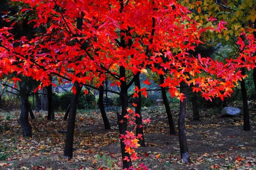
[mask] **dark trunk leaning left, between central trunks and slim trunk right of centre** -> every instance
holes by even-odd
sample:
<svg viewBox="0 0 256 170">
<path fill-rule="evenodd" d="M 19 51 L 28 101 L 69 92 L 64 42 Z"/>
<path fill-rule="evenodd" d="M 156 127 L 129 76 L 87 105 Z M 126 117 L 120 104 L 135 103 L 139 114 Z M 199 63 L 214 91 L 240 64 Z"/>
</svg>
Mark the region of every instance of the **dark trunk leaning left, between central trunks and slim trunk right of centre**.
<svg viewBox="0 0 256 170">
<path fill-rule="evenodd" d="M 164 77 L 163 77 L 162 74 L 160 75 L 160 83 L 161 84 L 164 83 Z M 167 118 L 168 118 L 170 134 L 175 135 L 176 134 L 175 126 L 174 126 L 174 122 L 173 122 L 173 119 L 172 119 L 171 108 L 170 108 L 170 105 L 169 105 L 169 102 L 168 102 L 168 99 L 167 99 L 167 96 L 166 96 L 166 89 L 161 87 L 161 92 L 162 92 L 162 96 L 163 96 L 163 104 L 166 108 L 166 114 L 167 114 Z"/>
</svg>

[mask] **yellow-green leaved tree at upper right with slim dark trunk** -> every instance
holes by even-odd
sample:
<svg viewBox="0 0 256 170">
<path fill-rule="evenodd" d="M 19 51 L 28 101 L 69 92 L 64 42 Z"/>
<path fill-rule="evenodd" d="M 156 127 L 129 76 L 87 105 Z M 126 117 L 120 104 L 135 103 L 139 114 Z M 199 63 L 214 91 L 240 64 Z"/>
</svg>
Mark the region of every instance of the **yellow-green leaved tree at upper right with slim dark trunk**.
<svg viewBox="0 0 256 170">
<path fill-rule="evenodd" d="M 216 45 L 219 42 L 221 42 L 222 45 L 231 43 L 235 49 L 233 50 L 233 53 L 227 54 L 227 58 L 238 57 L 239 59 L 239 53 L 241 53 L 243 48 L 240 48 L 238 44 L 247 43 L 246 35 L 244 36 L 244 34 L 253 34 L 254 37 L 256 36 L 255 1 L 206 0 L 202 2 L 197 0 L 186 0 L 182 1 L 181 4 L 193 11 L 191 15 L 202 26 L 212 26 L 216 20 L 225 20 L 227 29 L 223 32 L 218 32 L 218 34 L 204 34 L 203 39 L 206 43 L 211 45 Z M 214 41 L 214 43 L 212 43 L 212 41 Z M 221 56 L 219 54 L 217 55 L 218 57 Z M 244 60 L 244 62 L 246 62 L 246 59 Z M 246 68 L 247 70 L 253 69 L 253 82 L 256 89 L 256 68 L 254 65 L 255 63 L 250 62 L 250 66 L 244 65 L 244 67 L 238 69 L 241 70 L 243 76 L 246 76 Z M 244 78 L 241 79 L 240 85 L 244 110 L 243 129 L 250 130 L 247 90 Z"/>
</svg>

